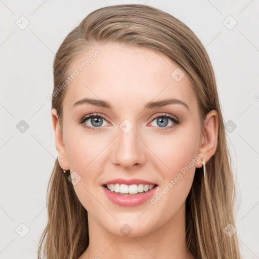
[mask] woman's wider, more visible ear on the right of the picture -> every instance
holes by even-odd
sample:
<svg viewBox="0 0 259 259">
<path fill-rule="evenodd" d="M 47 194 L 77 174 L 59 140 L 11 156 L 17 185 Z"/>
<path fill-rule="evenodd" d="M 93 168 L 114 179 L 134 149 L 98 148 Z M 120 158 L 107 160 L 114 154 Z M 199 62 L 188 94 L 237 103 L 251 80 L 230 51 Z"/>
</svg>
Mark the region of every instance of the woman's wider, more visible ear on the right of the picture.
<svg viewBox="0 0 259 259">
<path fill-rule="evenodd" d="M 204 121 L 204 131 L 200 139 L 200 153 L 207 162 L 215 153 L 218 145 L 219 117 L 215 110 L 210 111 Z M 196 167 L 201 167 L 202 161 L 197 162 Z"/>
</svg>

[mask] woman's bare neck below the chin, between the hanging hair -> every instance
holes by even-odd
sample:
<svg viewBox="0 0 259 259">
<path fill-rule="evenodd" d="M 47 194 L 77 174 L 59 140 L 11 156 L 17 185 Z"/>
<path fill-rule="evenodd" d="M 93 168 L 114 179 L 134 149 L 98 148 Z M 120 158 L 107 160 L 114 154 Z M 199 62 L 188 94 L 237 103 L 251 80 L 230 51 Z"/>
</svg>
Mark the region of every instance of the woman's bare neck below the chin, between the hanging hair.
<svg viewBox="0 0 259 259">
<path fill-rule="evenodd" d="M 88 222 L 90 242 L 79 259 L 194 259 L 186 246 L 185 203 L 165 225 L 142 236 L 114 235 L 91 215 L 88 215 Z"/>
</svg>

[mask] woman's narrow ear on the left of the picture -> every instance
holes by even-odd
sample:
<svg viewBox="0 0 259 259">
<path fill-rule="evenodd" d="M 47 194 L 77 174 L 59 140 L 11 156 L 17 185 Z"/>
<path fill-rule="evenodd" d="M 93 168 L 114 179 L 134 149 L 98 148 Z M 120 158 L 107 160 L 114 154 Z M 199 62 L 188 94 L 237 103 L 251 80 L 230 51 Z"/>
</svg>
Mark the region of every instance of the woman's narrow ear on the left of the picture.
<svg viewBox="0 0 259 259">
<path fill-rule="evenodd" d="M 60 128 L 56 109 L 52 109 L 52 124 L 55 132 L 55 144 L 58 152 L 59 164 L 62 169 L 68 170 L 69 164 L 67 161 L 66 150 L 65 150 L 65 145 L 63 141 L 63 133 Z"/>
</svg>

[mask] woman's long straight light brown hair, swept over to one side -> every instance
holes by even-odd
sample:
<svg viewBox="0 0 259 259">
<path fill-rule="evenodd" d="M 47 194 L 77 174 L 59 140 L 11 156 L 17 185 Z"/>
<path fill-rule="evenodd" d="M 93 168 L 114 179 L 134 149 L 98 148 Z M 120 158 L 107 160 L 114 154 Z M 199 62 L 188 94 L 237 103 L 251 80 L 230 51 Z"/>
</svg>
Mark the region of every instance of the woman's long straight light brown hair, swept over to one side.
<svg viewBox="0 0 259 259">
<path fill-rule="evenodd" d="M 218 144 L 206 163 L 196 168 L 186 199 L 186 242 L 195 258 L 241 258 L 237 234 L 224 228 L 235 226 L 235 182 L 227 147 L 224 119 L 211 62 L 198 37 L 183 22 L 146 5 L 116 5 L 98 9 L 85 17 L 63 40 L 54 69 L 52 108 L 62 129 L 62 101 L 71 63 L 89 47 L 115 42 L 143 47 L 166 55 L 189 76 L 198 101 L 200 124 L 211 110 L 218 112 Z M 70 171 L 68 171 L 70 174 Z M 58 158 L 48 185 L 48 223 L 40 238 L 38 258 L 77 259 L 89 246 L 88 213 L 78 200 Z M 41 257 L 41 252 L 44 257 Z"/>
</svg>

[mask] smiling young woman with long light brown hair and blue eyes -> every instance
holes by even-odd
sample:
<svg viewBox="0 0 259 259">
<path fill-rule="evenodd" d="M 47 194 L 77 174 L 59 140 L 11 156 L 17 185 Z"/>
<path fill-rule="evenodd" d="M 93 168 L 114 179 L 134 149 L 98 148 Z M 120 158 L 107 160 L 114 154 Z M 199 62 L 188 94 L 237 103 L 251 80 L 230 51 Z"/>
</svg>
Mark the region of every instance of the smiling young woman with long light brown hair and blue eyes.
<svg viewBox="0 0 259 259">
<path fill-rule="evenodd" d="M 89 14 L 54 61 L 46 258 L 240 258 L 214 72 L 181 21 Z M 45 242 L 45 244 L 44 244 Z"/>
</svg>

